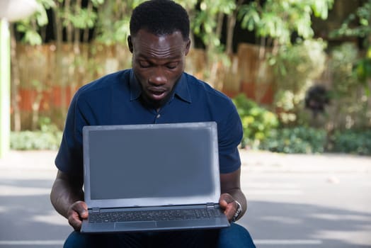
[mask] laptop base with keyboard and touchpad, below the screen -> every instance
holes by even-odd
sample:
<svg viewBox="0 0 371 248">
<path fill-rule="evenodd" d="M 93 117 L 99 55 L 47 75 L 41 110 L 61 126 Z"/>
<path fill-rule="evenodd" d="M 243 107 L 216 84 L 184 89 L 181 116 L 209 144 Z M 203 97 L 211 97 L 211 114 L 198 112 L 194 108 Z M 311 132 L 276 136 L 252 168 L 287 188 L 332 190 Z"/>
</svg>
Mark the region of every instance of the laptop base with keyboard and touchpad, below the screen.
<svg viewBox="0 0 371 248">
<path fill-rule="evenodd" d="M 164 209 L 165 208 L 165 209 Z M 166 209 L 167 208 L 167 209 Z M 147 216 L 144 216 L 147 214 Z M 186 217 L 188 215 L 188 217 Z M 110 220 L 113 218 L 113 220 Z M 115 221 L 117 220 L 117 221 Z M 135 221 L 133 221 L 135 220 Z M 229 227 L 227 217 L 219 205 L 169 206 L 142 210 L 89 210 L 81 232 L 148 232 L 169 230 L 218 229 Z"/>
</svg>

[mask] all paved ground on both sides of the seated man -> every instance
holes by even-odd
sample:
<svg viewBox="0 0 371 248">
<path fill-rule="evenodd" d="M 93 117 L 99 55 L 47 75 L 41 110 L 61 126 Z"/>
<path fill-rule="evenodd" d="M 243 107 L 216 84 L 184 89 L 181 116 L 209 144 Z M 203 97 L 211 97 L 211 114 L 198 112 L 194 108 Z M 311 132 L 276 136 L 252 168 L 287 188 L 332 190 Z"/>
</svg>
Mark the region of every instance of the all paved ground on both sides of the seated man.
<svg viewBox="0 0 371 248">
<path fill-rule="evenodd" d="M 0 247 L 62 247 L 72 231 L 49 192 L 55 152 L 0 159 Z M 371 247 L 371 157 L 241 151 L 257 247 Z"/>
</svg>

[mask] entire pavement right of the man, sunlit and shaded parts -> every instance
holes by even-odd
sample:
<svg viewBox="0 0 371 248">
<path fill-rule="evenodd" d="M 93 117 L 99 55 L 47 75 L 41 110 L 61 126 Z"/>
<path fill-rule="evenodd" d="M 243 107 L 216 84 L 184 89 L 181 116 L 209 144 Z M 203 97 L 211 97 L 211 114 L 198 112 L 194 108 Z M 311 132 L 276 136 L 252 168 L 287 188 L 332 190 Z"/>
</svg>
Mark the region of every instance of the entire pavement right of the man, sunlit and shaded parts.
<svg viewBox="0 0 371 248">
<path fill-rule="evenodd" d="M 241 152 L 257 247 L 371 247 L 371 158 Z"/>
</svg>

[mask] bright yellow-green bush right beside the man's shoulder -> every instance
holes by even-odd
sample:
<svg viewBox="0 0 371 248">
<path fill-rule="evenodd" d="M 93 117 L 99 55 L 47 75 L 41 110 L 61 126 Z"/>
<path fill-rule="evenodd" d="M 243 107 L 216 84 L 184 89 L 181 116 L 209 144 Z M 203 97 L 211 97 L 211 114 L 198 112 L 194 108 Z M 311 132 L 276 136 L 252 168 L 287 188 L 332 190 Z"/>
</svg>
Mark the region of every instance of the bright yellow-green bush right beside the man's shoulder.
<svg viewBox="0 0 371 248">
<path fill-rule="evenodd" d="M 233 101 L 244 129 L 241 146 L 256 148 L 262 140 L 266 139 L 270 130 L 278 126 L 278 119 L 274 113 L 258 106 L 244 94 L 239 94 L 233 98 Z"/>
</svg>

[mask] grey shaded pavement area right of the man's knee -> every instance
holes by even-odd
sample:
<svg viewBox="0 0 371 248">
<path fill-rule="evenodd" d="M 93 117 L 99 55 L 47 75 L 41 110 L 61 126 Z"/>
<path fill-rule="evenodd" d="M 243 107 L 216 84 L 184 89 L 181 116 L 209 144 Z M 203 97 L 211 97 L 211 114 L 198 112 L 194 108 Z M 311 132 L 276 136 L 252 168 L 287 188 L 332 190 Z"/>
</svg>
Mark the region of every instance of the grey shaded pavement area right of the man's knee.
<svg viewBox="0 0 371 248">
<path fill-rule="evenodd" d="M 269 239 L 321 242 L 297 247 L 371 247 L 370 213 L 320 205 L 249 201 L 249 213 L 240 224 L 249 229 L 258 247 Z M 270 247 L 280 246 L 270 244 Z"/>
</svg>

